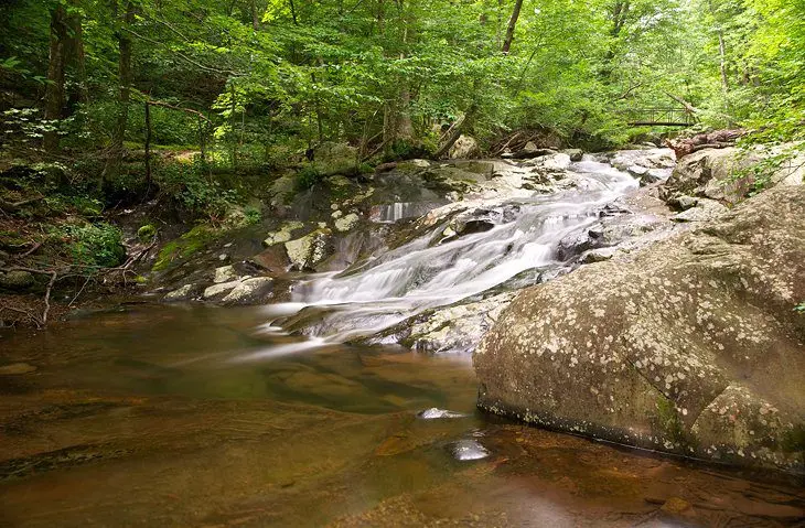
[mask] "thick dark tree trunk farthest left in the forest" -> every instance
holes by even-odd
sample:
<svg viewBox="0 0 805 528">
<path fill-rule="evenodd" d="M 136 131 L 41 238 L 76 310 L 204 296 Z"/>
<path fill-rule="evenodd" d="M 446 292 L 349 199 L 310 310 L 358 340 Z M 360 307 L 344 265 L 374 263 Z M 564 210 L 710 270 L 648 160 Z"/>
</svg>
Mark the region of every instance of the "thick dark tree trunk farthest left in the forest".
<svg viewBox="0 0 805 528">
<path fill-rule="evenodd" d="M 64 71 L 66 63 L 67 41 L 67 13 L 61 3 L 51 12 L 51 49 L 50 63 L 47 66 L 47 87 L 45 88 L 45 112 L 46 121 L 55 127 L 56 121 L 62 118 L 64 108 Z M 58 132 L 50 130 L 44 133 L 44 148 L 49 152 L 58 150 Z"/>
</svg>

